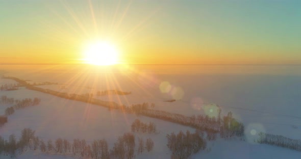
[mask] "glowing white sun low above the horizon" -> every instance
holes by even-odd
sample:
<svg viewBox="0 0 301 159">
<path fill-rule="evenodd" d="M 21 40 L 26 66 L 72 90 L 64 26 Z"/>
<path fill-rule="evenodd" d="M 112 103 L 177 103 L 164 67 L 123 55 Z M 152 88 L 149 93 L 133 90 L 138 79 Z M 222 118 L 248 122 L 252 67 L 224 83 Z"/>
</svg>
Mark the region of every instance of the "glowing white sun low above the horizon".
<svg viewBox="0 0 301 159">
<path fill-rule="evenodd" d="M 115 65 L 118 63 L 116 47 L 107 41 L 97 41 L 84 49 L 84 61 L 92 65 Z"/>
</svg>

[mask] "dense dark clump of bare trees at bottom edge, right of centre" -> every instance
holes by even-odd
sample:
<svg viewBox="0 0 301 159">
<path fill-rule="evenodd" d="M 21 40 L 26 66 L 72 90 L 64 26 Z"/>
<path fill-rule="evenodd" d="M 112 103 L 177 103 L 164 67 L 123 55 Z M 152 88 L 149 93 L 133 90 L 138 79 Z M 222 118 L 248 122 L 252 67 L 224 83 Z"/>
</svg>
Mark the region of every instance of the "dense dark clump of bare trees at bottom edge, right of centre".
<svg viewBox="0 0 301 159">
<path fill-rule="evenodd" d="M 196 153 L 207 146 L 206 140 L 203 138 L 203 133 L 195 131 L 190 133 L 189 130 L 186 134 L 180 131 L 177 135 L 174 133 L 168 134 L 167 147 L 171 150 L 171 158 L 183 159 L 188 158 L 192 153 Z"/>
</svg>

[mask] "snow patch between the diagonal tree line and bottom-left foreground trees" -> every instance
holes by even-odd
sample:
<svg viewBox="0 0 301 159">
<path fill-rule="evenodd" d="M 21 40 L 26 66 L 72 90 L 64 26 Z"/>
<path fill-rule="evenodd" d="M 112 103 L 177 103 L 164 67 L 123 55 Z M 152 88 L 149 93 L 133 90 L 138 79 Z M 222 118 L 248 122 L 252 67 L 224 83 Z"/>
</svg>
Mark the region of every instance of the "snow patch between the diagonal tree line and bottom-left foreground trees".
<svg viewBox="0 0 301 159">
<path fill-rule="evenodd" d="M 0 92 L 0 95 L 1 93 L 3 92 Z M 193 128 L 179 124 L 124 114 L 118 111 L 109 111 L 96 105 L 59 98 L 32 90 L 23 89 L 6 94 L 8 97 L 14 97 L 15 99 L 39 97 L 41 98 L 41 105 L 17 110 L 9 116 L 8 123 L 0 128 L 0 134 L 4 138 L 8 138 L 11 134 L 15 134 L 19 138 L 21 130 L 29 127 L 36 130 L 36 136 L 44 141 L 63 138 L 72 142 L 73 139 L 80 138 L 91 143 L 95 139 L 106 139 L 109 146 L 112 147 L 119 136 L 131 131 L 132 122 L 135 119 L 140 119 L 146 123 L 154 122 L 158 130 L 157 134 L 136 134 L 137 137 L 142 137 L 144 140 L 147 138 L 153 139 L 155 143 L 154 152 L 156 153 L 149 153 L 147 156 L 156 158 L 157 155 L 160 155 L 168 158 L 170 154 L 166 146 L 166 135 L 180 130 L 194 131 Z"/>
</svg>

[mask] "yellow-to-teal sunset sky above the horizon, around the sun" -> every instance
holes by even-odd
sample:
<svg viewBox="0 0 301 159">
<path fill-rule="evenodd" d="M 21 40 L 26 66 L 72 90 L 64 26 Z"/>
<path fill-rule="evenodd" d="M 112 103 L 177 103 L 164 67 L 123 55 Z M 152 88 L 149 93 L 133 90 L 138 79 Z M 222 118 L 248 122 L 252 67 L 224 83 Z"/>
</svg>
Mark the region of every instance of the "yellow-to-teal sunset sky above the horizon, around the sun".
<svg viewBox="0 0 301 159">
<path fill-rule="evenodd" d="M 301 64 L 301 1 L 0 0 L 0 64 L 81 63 L 112 43 L 120 63 Z"/>
</svg>

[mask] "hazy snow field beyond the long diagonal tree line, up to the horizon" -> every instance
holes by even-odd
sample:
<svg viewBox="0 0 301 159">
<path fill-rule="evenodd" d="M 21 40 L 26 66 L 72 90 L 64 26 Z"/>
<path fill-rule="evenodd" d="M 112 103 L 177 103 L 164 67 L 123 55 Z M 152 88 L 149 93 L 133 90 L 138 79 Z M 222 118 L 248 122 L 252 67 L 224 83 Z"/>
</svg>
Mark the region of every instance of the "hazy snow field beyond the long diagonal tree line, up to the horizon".
<svg viewBox="0 0 301 159">
<path fill-rule="evenodd" d="M 284 135 L 293 139 L 300 138 L 301 83 L 299 79 L 301 76 L 237 74 L 186 76 L 159 74 L 156 77 L 150 74 L 148 76 L 151 77 L 145 79 L 156 78 L 157 80 L 143 85 L 139 83 L 137 75 L 115 75 L 116 79 L 119 79 L 115 82 L 118 87 L 109 83 L 109 89 L 131 91 L 130 95 L 95 96 L 97 91 L 107 90 L 107 86 L 95 86 L 93 89 L 67 85 L 65 89 L 61 89 L 61 85 L 39 87 L 67 93 L 93 93 L 94 98 L 125 105 L 142 102 L 155 103 L 155 109 L 183 115 L 205 114 L 203 109 L 205 105 L 216 103 L 221 105 L 222 114 L 232 111 L 234 117 L 243 121 L 245 126 L 252 127 L 257 124 L 264 128 L 258 131 Z M 163 87 L 163 92 L 160 89 L 160 85 L 162 86 L 164 82 L 168 82 L 171 87 L 168 93 L 164 93 L 165 87 Z M 173 94 L 177 94 L 177 88 L 180 87 L 183 98 L 175 102 L 164 101 L 174 98 Z"/>
</svg>

